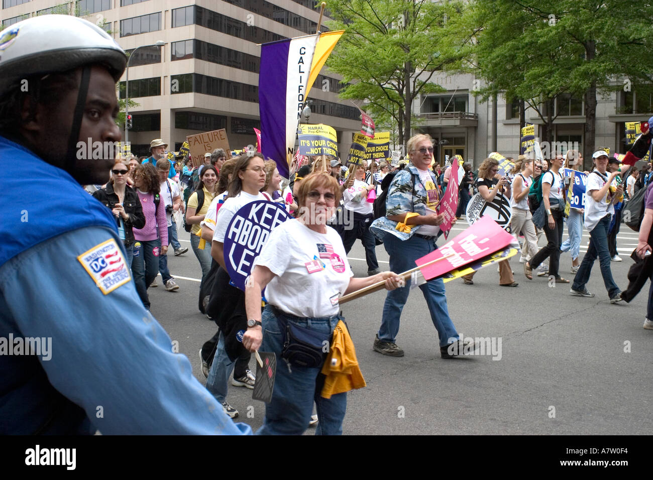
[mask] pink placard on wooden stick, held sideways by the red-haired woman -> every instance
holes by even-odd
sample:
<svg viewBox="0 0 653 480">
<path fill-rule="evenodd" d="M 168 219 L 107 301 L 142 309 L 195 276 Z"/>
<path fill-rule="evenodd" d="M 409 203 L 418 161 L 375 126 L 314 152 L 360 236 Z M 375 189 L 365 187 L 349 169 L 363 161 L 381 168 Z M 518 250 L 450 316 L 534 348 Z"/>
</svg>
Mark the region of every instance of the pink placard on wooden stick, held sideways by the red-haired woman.
<svg viewBox="0 0 653 480">
<path fill-rule="evenodd" d="M 510 245 L 513 240 L 513 236 L 503 230 L 496 221 L 485 216 L 437 250 L 417 259 L 415 263 L 421 267 L 425 263 L 451 255 L 442 261 L 420 268 L 424 278 L 431 280 L 475 260 L 492 255 Z"/>
</svg>

